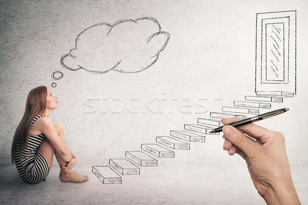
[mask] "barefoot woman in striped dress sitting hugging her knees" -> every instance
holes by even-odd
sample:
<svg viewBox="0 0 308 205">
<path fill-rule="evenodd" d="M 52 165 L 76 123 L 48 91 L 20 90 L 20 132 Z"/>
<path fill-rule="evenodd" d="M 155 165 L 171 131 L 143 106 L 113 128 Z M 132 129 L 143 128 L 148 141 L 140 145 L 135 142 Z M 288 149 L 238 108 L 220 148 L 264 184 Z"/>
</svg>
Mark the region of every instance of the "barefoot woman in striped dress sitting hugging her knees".
<svg viewBox="0 0 308 205">
<path fill-rule="evenodd" d="M 45 181 L 52 165 L 53 154 L 60 166 L 60 180 L 84 182 L 85 175 L 72 171 L 77 157 L 65 143 L 64 129 L 51 122 L 50 113 L 58 107 L 57 96 L 45 86 L 32 89 L 26 110 L 12 143 L 11 160 L 27 183 Z"/>
</svg>

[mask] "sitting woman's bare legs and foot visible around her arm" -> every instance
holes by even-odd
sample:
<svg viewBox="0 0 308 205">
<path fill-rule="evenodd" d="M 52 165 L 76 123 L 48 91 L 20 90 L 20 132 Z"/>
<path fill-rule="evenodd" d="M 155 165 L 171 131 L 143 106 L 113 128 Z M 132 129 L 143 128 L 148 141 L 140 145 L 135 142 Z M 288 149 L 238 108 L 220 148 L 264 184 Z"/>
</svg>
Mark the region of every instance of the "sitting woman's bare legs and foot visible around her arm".
<svg viewBox="0 0 308 205">
<path fill-rule="evenodd" d="M 59 122 L 55 122 L 53 124 L 57 134 L 61 137 L 61 139 L 64 140 L 65 142 L 65 138 L 64 138 L 64 129 L 62 127 L 62 125 Z M 62 157 L 60 156 L 60 154 L 54 149 L 54 147 L 52 146 L 51 142 L 48 140 L 47 137 L 45 137 L 45 139 L 43 140 L 40 148 L 38 148 L 38 151 L 46 158 L 47 163 L 48 163 L 48 167 L 49 167 L 49 171 L 51 169 L 51 165 L 52 165 L 52 160 L 53 160 L 53 154 L 56 157 L 57 162 L 60 165 L 66 165 L 66 161 L 64 159 L 62 159 Z M 82 175 L 79 175 L 75 172 L 70 172 L 69 174 L 66 174 L 65 172 L 63 172 L 60 169 L 60 180 L 61 181 L 71 181 L 71 182 L 83 182 L 88 180 L 87 177 L 84 177 Z"/>
</svg>

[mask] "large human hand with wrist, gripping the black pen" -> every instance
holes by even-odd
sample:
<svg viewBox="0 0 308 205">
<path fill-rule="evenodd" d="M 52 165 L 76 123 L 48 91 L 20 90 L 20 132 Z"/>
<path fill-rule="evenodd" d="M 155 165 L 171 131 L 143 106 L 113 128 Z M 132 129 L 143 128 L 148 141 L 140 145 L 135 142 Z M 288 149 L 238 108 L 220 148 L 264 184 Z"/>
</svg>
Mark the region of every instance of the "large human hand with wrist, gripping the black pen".
<svg viewBox="0 0 308 205">
<path fill-rule="evenodd" d="M 228 125 L 238 120 L 241 119 L 225 118 L 222 123 Z M 254 186 L 267 204 L 301 204 L 292 181 L 282 133 L 255 124 L 237 129 L 224 126 L 222 131 L 223 149 L 228 150 L 229 155 L 239 154 L 246 161 Z"/>
</svg>

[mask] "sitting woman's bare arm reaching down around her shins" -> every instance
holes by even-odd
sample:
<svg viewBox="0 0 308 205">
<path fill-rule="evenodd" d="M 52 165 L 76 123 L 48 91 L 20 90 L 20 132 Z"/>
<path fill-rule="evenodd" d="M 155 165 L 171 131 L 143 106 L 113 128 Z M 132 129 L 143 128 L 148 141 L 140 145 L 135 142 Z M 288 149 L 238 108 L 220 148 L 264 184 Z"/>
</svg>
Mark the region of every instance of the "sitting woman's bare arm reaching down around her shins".
<svg viewBox="0 0 308 205">
<path fill-rule="evenodd" d="M 69 147 L 64 141 L 57 135 L 52 122 L 48 117 L 41 117 L 36 121 L 37 129 L 49 139 L 54 149 L 60 154 L 60 156 L 67 162 L 71 161 L 72 154 Z"/>
</svg>

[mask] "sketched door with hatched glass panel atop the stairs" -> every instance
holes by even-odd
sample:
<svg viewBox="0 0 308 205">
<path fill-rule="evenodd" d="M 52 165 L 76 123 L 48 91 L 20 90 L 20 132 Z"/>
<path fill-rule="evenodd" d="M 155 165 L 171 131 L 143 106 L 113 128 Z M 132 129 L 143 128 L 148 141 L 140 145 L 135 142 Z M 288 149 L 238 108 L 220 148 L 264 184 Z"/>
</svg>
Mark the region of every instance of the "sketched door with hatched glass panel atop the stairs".
<svg viewBox="0 0 308 205">
<path fill-rule="evenodd" d="M 257 13 L 256 94 L 296 94 L 296 11 Z"/>
</svg>

